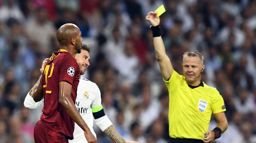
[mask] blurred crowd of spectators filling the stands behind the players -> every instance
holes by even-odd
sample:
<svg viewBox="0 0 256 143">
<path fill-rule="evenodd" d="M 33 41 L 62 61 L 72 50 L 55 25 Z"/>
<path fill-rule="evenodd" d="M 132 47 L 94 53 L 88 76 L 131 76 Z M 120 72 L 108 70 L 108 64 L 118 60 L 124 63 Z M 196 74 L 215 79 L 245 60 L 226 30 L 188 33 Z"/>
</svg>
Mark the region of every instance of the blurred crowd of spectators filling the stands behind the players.
<svg viewBox="0 0 256 143">
<path fill-rule="evenodd" d="M 126 140 L 166 143 L 168 91 L 145 16 L 164 4 L 167 55 L 182 74 L 182 55 L 204 55 L 202 80 L 219 90 L 228 130 L 215 143 L 256 143 L 256 0 L 0 0 L 0 143 L 33 143 L 42 106 L 23 101 L 44 58 L 58 50 L 56 29 L 78 25 L 91 47 L 85 77 Z M 216 126 L 211 120 L 210 129 Z M 111 143 L 95 127 L 98 143 Z M 191 130 L 191 132 L 193 132 Z"/>
</svg>

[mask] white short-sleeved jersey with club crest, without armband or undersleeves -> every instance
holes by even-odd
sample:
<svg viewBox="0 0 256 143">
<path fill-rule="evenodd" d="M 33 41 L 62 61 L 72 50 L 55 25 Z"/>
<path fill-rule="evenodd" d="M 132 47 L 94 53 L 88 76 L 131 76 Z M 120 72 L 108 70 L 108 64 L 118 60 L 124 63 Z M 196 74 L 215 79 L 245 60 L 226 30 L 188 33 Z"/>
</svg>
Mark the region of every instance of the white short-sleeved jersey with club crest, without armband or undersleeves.
<svg viewBox="0 0 256 143">
<path fill-rule="evenodd" d="M 95 137 L 91 108 L 98 105 L 101 105 L 100 89 L 94 82 L 81 78 L 77 88 L 76 108 Z M 84 131 L 76 123 L 73 135 L 74 139 L 69 140 L 69 143 L 87 143 Z"/>
</svg>

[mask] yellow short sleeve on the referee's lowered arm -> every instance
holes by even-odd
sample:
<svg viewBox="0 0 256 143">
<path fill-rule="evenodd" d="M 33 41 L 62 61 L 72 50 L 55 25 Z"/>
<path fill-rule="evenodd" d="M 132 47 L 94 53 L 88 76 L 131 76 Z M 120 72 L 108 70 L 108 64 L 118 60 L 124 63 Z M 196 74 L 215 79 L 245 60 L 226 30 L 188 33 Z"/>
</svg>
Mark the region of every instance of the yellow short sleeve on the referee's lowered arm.
<svg viewBox="0 0 256 143">
<path fill-rule="evenodd" d="M 217 91 L 217 89 L 215 89 L 213 94 L 212 111 L 213 111 L 213 114 L 226 111 L 224 100 L 222 96 L 219 94 L 219 92 Z"/>
</svg>

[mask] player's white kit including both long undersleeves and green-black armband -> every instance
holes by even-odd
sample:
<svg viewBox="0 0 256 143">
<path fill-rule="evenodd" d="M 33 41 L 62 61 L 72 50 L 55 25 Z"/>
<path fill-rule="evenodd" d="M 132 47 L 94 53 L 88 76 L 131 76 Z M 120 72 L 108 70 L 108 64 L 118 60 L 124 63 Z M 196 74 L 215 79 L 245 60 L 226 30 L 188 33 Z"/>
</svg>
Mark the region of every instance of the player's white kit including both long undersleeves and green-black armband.
<svg viewBox="0 0 256 143">
<path fill-rule="evenodd" d="M 35 109 L 42 103 L 43 99 L 39 102 L 35 102 L 33 97 L 27 94 L 24 106 L 29 109 Z M 93 130 L 93 116 L 95 118 L 95 123 L 102 131 L 112 125 L 111 121 L 104 114 L 101 105 L 100 89 L 94 82 L 85 78 L 80 78 L 75 105 L 82 119 L 85 120 L 85 123 L 95 137 L 96 134 Z M 74 139 L 69 140 L 69 143 L 87 143 L 84 131 L 76 123 L 73 135 Z"/>
</svg>

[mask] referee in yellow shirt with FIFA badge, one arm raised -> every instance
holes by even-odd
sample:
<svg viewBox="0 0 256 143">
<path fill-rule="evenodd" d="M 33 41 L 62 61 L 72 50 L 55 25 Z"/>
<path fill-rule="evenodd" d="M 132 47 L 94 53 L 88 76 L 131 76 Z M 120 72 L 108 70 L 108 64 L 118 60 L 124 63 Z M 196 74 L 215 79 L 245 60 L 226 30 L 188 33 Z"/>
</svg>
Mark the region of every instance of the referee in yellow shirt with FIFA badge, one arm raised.
<svg viewBox="0 0 256 143">
<path fill-rule="evenodd" d="M 201 81 L 204 57 L 197 51 L 183 55 L 183 76 L 172 67 L 165 53 L 157 12 L 150 12 L 154 49 L 163 80 L 169 91 L 169 141 L 168 143 L 211 143 L 228 128 L 223 98 L 216 88 Z M 208 130 L 211 115 L 218 124 Z"/>
</svg>

